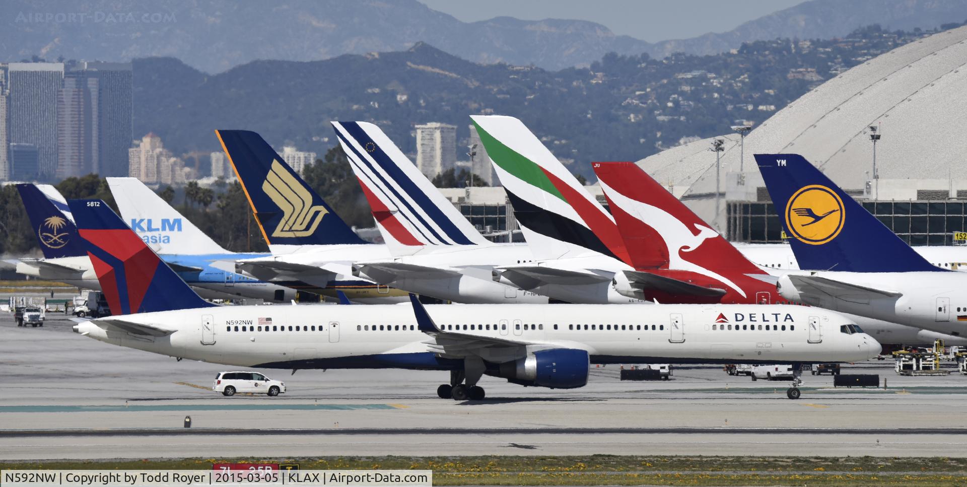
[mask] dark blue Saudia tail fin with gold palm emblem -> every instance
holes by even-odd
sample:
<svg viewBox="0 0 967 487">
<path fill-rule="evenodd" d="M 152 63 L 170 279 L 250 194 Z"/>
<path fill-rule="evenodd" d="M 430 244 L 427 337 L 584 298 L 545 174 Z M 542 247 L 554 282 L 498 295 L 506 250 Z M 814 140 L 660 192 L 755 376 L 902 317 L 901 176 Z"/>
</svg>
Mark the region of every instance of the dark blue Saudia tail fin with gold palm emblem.
<svg viewBox="0 0 967 487">
<path fill-rule="evenodd" d="M 16 185 L 16 190 L 20 192 L 23 207 L 30 218 L 30 229 L 37 236 L 45 258 L 87 255 L 84 244 L 77 237 L 73 220 L 64 215 L 39 187 Z"/>
</svg>

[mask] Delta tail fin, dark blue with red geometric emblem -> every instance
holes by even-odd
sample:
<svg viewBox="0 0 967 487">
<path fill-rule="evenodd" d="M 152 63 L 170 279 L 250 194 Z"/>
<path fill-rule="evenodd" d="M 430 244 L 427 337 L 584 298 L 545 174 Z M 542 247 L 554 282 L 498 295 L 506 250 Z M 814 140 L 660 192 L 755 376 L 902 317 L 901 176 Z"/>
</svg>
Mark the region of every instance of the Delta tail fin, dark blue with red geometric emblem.
<svg viewBox="0 0 967 487">
<path fill-rule="evenodd" d="M 70 200 L 77 230 L 114 314 L 214 306 L 202 300 L 101 200 Z"/>
</svg>

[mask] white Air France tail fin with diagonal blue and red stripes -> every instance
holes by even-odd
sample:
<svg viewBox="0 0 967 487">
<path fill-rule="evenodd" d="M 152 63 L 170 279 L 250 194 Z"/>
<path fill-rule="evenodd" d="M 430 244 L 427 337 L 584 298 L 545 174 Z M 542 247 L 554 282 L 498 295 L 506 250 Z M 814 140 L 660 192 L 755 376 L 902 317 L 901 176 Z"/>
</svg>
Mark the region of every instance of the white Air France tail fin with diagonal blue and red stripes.
<svg viewBox="0 0 967 487">
<path fill-rule="evenodd" d="M 405 245 L 488 245 L 396 144 L 373 124 L 333 122 L 383 237 Z"/>
</svg>

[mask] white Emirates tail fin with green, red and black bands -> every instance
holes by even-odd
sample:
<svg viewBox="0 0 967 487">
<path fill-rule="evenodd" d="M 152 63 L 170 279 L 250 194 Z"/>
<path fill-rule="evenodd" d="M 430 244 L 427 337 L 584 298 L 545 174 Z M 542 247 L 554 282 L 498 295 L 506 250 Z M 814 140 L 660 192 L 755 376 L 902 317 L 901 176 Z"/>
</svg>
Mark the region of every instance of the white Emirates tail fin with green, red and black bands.
<svg viewBox="0 0 967 487">
<path fill-rule="evenodd" d="M 513 117 L 470 118 L 535 258 L 597 252 L 630 265 L 614 219 L 534 133 Z"/>
</svg>

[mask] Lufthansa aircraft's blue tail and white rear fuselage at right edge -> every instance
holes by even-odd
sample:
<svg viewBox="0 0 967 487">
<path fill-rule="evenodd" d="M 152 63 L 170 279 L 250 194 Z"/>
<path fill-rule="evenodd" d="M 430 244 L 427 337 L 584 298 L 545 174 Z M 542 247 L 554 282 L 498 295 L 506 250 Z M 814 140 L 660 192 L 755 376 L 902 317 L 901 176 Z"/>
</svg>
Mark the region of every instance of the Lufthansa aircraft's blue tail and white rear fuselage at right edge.
<svg viewBox="0 0 967 487">
<path fill-rule="evenodd" d="M 954 336 L 967 334 L 967 274 L 941 269 L 796 154 L 755 155 L 800 267 L 782 296 Z"/>
</svg>

